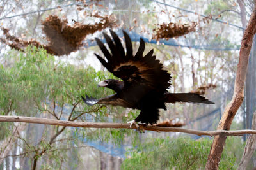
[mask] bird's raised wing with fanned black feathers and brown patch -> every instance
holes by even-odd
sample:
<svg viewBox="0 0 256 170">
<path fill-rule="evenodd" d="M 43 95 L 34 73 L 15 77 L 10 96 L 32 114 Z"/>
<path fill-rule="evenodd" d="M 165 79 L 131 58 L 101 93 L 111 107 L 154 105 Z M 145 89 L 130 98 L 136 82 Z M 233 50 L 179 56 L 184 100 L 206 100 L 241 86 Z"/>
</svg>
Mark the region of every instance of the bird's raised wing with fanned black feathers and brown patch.
<svg viewBox="0 0 256 170">
<path fill-rule="evenodd" d="M 110 52 L 102 41 L 96 38 L 97 44 L 107 61 L 99 55 L 95 55 L 108 71 L 124 81 L 124 89 L 132 92 L 133 97 L 142 97 L 148 91 L 156 89 L 164 92 L 170 86 L 170 74 L 163 70 L 163 64 L 156 60 L 153 50 L 150 50 L 147 55 L 143 56 L 145 50 L 143 39 L 140 39 L 138 52 L 133 55 L 131 39 L 125 31 L 123 33 L 126 53 L 115 32 L 110 30 L 110 33 L 113 40 L 103 33 Z"/>
</svg>

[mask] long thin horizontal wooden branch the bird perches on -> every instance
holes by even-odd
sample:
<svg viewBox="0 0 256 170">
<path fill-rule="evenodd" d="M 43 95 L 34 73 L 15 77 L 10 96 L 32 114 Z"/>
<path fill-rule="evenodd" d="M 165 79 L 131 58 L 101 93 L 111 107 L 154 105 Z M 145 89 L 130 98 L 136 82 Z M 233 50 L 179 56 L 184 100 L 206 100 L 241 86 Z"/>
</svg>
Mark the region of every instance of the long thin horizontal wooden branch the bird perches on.
<svg viewBox="0 0 256 170">
<path fill-rule="evenodd" d="M 103 123 L 103 122 L 72 122 L 66 120 L 56 120 L 50 118 L 35 118 L 35 117 L 20 117 L 20 116 L 0 116 L 0 122 L 24 122 L 33 124 L 46 124 L 46 125 L 60 125 L 60 126 L 70 126 L 70 127 L 84 127 L 84 128 L 114 128 L 114 129 L 129 129 L 130 124 L 125 123 Z M 225 134 L 227 136 L 240 136 L 242 134 L 256 134 L 256 130 L 238 130 L 238 131 L 198 131 L 193 129 L 186 129 L 180 127 L 154 127 L 148 125 L 147 127 L 140 125 L 141 129 L 148 131 L 157 132 L 182 132 L 188 134 L 196 134 L 198 136 L 216 136 L 220 134 Z M 135 125 L 132 129 L 136 129 Z"/>
</svg>

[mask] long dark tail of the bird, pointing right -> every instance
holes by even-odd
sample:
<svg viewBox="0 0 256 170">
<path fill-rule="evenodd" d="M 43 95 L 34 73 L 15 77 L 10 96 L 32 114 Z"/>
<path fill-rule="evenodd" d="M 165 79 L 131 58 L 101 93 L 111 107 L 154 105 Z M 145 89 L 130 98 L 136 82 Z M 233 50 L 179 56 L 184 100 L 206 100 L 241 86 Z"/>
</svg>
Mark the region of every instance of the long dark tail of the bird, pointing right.
<svg viewBox="0 0 256 170">
<path fill-rule="evenodd" d="M 195 93 L 166 93 L 165 102 L 175 103 L 175 102 L 188 102 L 188 103 L 204 103 L 204 104 L 214 104 L 214 102 L 209 101 L 204 96 L 200 96 Z"/>
</svg>

